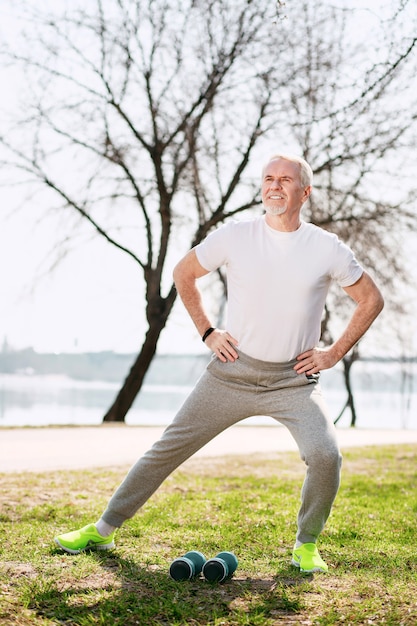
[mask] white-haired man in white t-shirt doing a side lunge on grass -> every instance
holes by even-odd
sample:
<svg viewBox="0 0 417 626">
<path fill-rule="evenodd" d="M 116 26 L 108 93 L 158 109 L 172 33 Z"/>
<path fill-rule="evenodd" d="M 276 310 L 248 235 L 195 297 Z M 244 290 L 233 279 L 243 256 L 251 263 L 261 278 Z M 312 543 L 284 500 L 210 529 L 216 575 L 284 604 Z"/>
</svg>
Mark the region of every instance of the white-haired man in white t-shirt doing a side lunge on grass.
<svg viewBox="0 0 417 626">
<path fill-rule="evenodd" d="M 307 466 L 292 563 L 302 572 L 327 571 L 316 542 L 339 487 L 341 455 L 326 414 L 319 372 L 333 367 L 383 308 L 382 296 L 351 250 L 301 220 L 312 190 L 303 159 L 276 155 L 262 175 L 265 214 L 230 222 L 178 263 L 178 293 L 213 357 L 161 439 L 132 467 L 96 524 L 55 542 L 77 554 L 114 546 L 114 533 L 161 482 L 224 429 L 252 415 L 285 425 Z M 197 286 L 227 268 L 226 330 L 213 328 Z M 319 348 L 320 321 L 332 280 L 356 302 L 343 334 Z"/>
</svg>

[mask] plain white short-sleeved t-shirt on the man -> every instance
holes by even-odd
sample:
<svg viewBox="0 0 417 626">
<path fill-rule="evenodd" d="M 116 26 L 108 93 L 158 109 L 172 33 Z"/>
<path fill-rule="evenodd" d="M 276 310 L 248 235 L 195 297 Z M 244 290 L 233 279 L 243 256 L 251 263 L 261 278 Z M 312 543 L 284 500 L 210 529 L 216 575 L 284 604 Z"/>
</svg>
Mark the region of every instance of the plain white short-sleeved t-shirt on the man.
<svg viewBox="0 0 417 626">
<path fill-rule="evenodd" d="M 348 287 L 363 273 L 336 235 L 306 222 L 277 231 L 264 215 L 224 224 L 195 252 L 208 271 L 226 266 L 226 329 L 262 361 L 285 363 L 316 346 L 331 281 Z"/>
</svg>

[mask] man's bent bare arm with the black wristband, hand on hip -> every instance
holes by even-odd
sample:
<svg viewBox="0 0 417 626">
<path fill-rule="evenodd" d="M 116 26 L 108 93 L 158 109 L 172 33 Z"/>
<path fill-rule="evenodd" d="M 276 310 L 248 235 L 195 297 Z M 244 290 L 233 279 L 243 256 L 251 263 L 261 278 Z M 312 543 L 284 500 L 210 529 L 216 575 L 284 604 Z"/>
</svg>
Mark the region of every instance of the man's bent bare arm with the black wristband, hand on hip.
<svg viewBox="0 0 417 626">
<path fill-rule="evenodd" d="M 204 309 L 197 280 L 208 273 L 197 259 L 195 250 L 190 250 L 174 268 L 174 282 L 178 294 L 201 337 L 212 324 Z M 207 337 L 205 344 L 223 362 L 235 361 L 238 358 L 233 347 L 237 345 L 237 340 L 227 331 L 215 329 Z"/>
</svg>

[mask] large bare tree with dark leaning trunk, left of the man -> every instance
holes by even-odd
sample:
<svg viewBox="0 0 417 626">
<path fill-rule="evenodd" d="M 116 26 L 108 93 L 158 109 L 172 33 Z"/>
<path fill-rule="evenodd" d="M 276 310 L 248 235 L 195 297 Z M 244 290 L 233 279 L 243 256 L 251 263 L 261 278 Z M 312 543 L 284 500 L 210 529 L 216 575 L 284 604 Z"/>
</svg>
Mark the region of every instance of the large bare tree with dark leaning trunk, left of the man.
<svg viewBox="0 0 417 626">
<path fill-rule="evenodd" d="M 259 202 L 250 178 L 238 183 L 277 122 L 272 96 L 287 78 L 274 72 L 278 9 L 96 0 L 54 16 L 26 5 L 26 47 L 7 55 L 31 99 L 1 138 L 8 162 L 54 193 L 56 211 L 78 216 L 75 234 L 87 223 L 145 282 L 148 330 L 105 421 L 124 420 L 155 354 L 176 297 L 172 248 Z"/>
</svg>

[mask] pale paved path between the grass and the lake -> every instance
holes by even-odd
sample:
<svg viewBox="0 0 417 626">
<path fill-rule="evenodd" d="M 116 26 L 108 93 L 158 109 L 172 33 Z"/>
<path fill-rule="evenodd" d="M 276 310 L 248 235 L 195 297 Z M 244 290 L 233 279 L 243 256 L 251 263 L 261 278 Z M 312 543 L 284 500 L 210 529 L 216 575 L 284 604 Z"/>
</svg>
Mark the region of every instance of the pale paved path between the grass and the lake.
<svg viewBox="0 0 417 626">
<path fill-rule="evenodd" d="M 102 426 L 0 428 L 0 472 L 51 471 L 131 465 L 163 427 Z M 353 446 L 417 444 L 417 430 L 338 429 L 342 450 Z M 286 428 L 232 426 L 195 456 L 215 457 L 297 450 Z"/>
</svg>

